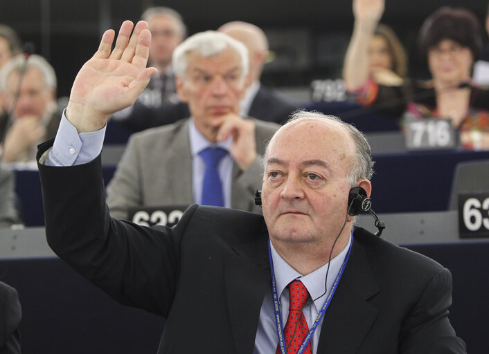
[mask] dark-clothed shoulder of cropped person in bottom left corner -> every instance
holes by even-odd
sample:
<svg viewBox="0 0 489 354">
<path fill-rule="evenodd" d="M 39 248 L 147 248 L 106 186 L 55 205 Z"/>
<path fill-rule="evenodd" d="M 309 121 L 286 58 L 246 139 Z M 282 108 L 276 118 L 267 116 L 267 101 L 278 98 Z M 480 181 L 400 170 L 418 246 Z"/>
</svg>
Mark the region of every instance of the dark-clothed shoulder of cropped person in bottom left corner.
<svg viewBox="0 0 489 354">
<path fill-rule="evenodd" d="M 20 354 L 22 310 L 17 291 L 0 281 L 0 354 Z"/>
</svg>

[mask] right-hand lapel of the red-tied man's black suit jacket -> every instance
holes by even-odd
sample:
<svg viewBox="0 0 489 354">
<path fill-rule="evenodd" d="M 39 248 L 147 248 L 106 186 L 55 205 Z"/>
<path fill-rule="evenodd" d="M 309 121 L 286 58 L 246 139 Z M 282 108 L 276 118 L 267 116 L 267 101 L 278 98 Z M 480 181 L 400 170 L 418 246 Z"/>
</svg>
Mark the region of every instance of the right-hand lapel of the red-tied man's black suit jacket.
<svg viewBox="0 0 489 354">
<path fill-rule="evenodd" d="M 318 354 L 357 353 L 378 315 L 366 300 L 379 291 L 364 249 L 353 239 L 350 258 L 323 319 Z"/>
</svg>

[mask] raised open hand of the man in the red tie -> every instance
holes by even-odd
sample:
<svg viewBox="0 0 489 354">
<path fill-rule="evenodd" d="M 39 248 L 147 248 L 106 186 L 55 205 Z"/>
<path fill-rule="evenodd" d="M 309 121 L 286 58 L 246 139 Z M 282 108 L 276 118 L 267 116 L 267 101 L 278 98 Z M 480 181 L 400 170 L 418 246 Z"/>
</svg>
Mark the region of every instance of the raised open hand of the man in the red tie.
<svg viewBox="0 0 489 354">
<path fill-rule="evenodd" d="M 115 32 L 105 31 L 97 52 L 78 72 L 66 108 L 66 118 L 78 133 L 102 128 L 114 112 L 133 104 L 157 73 L 156 68 L 146 68 L 148 24 L 139 21 L 133 32 L 132 28 L 131 21 L 123 22 L 112 51 Z"/>
</svg>

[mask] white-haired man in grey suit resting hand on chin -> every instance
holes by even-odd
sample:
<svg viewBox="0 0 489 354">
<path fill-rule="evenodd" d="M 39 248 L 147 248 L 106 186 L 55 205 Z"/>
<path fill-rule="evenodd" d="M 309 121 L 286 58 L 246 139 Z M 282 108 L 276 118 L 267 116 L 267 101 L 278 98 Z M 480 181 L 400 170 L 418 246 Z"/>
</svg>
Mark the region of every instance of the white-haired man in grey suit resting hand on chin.
<svg viewBox="0 0 489 354">
<path fill-rule="evenodd" d="M 130 207 L 211 203 L 204 198 L 204 154 L 212 149 L 222 152 L 215 165 L 219 205 L 259 212 L 254 189 L 260 183 L 260 158 L 278 124 L 240 115 L 246 47 L 224 33 L 201 32 L 175 48 L 172 66 L 190 118 L 131 136 L 107 186 L 112 215 L 127 218 Z"/>
</svg>

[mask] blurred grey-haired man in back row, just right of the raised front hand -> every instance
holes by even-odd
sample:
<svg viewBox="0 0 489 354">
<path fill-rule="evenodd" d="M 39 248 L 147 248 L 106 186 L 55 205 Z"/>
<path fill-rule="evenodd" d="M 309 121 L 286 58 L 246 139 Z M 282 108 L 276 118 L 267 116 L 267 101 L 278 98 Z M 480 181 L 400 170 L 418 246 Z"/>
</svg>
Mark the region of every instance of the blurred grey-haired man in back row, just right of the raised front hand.
<svg viewBox="0 0 489 354">
<path fill-rule="evenodd" d="M 149 64 L 157 68 L 158 73 L 151 78 L 132 106 L 114 113 L 114 120 L 130 131 L 170 124 L 190 114 L 188 105 L 181 102 L 176 93 L 172 68 L 173 50 L 186 37 L 186 26 L 181 15 L 172 8 L 157 6 L 145 10 L 141 19 L 150 26 Z"/>
</svg>

